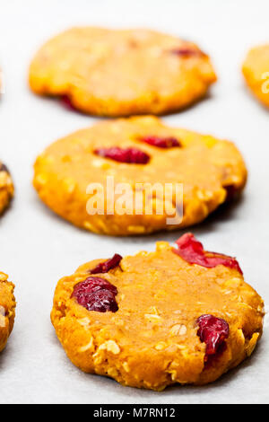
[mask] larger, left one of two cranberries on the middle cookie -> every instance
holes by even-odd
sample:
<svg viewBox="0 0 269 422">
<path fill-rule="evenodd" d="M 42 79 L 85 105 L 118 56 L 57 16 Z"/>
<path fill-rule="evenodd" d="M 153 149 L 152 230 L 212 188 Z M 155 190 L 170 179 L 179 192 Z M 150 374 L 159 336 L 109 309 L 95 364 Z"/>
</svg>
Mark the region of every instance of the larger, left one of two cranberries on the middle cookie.
<svg viewBox="0 0 269 422">
<path fill-rule="evenodd" d="M 112 146 L 110 148 L 98 148 L 94 151 L 101 157 L 111 158 L 119 163 L 146 164 L 150 156 L 137 148 L 120 148 Z"/>
</svg>

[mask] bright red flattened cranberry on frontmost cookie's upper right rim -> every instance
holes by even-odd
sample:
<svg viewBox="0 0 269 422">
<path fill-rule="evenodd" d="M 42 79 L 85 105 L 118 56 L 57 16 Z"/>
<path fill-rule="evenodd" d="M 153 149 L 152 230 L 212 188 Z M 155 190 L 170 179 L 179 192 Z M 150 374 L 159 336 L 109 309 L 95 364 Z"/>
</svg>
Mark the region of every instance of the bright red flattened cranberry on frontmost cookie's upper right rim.
<svg viewBox="0 0 269 422">
<path fill-rule="evenodd" d="M 234 268 L 243 274 L 239 267 L 239 262 L 232 257 L 216 252 L 204 251 L 203 244 L 195 239 L 194 234 L 186 233 L 179 237 L 176 242 L 178 250 L 173 249 L 182 259 L 187 260 L 190 264 L 201 265 L 202 267 L 213 268 L 217 265 Z"/>
</svg>

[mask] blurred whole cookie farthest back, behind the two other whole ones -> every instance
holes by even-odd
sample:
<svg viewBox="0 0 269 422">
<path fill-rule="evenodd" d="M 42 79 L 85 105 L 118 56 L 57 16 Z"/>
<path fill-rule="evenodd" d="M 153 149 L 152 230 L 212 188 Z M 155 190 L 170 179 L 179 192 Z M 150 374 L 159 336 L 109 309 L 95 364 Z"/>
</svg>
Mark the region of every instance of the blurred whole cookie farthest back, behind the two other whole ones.
<svg viewBox="0 0 269 422">
<path fill-rule="evenodd" d="M 32 91 L 103 116 L 178 110 L 215 80 L 195 44 L 148 30 L 74 28 L 49 40 L 30 66 Z"/>
</svg>

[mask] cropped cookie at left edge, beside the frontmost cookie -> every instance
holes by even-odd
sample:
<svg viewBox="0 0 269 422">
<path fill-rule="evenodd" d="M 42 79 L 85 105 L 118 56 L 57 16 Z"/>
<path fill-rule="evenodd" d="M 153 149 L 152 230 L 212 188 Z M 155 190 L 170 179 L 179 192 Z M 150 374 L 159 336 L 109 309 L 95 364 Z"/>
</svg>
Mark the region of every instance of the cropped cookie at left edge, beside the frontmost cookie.
<svg viewBox="0 0 269 422">
<path fill-rule="evenodd" d="M 7 281 L 6 274 L 0 272 L 0 352 L 4 349 L 15 318 L 14 285 Z"/>
</svg>

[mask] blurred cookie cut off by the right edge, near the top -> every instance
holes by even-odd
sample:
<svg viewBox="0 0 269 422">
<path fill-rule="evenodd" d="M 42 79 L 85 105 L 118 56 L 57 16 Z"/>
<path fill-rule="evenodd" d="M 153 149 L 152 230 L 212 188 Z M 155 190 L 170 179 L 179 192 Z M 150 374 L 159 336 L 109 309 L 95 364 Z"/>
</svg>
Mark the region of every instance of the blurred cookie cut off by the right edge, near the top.
<svg viewBox="0 0 269 422">
<path fill-rule="evenodd" d="M 269 107 L 269 44 L 252 48 L 242 70 L 250 90 Z"/>
</svg>

